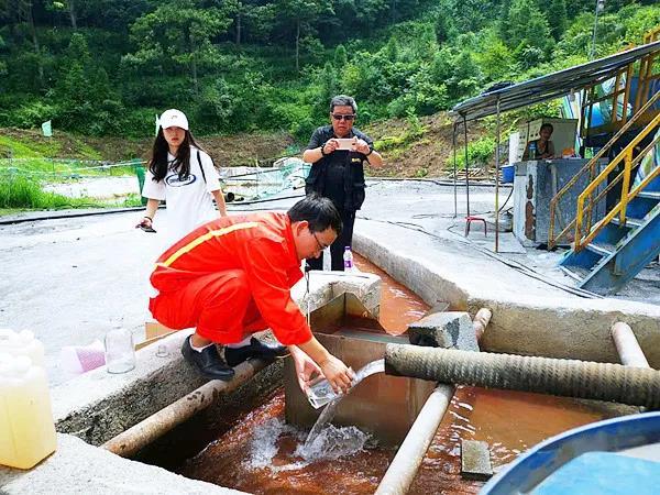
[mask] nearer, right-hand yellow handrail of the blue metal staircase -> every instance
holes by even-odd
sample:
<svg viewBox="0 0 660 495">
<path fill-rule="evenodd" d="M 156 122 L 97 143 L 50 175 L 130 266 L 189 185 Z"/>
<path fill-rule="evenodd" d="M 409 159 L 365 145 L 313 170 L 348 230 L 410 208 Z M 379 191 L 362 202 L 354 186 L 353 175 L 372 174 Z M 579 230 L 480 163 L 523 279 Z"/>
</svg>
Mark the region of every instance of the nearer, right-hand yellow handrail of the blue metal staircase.
<svg viewBox="0 0 660 495">
<path fill-rule="evenodd" d="M 658 92 L 657 95 L 660 95 Z M 651 122 L 635 136 L 635 139 L 619 153 L 600 174 L 598 176 L 592 180 L 592 183 L 584 188 L 582 194 L 578 197 L 578 211 L 575 213 L 575 243 L 574 250 L 575 252 L 581 251 L 585 245 L 587 245 L 597 233 L 605 227 L 614 217 L 619 215 L 619 221 L 622 226 L 626 222 L 626 209 L 628 202 L 637 196 L 640 190 L 644 188 L 658 175 L 660 175 L 660 166 L 656 167 L 651 174 L 649 174 L 637 187 L 632 190 L 628 191 L 630 187 L 630 172 L 632 169 L 632 165 L 636 162 L 639 162 L 649 153 L 654 145 L 660 141 L 660 136 L 656 136 L 653 141 L 641 151 L 638 156 L 632 160 L 634 148 L 641 140 L 644 140 L 650 132 L 656 130 L 656 127 L 660 125 L 660 113 L 658 113 Z M 609 211 L 605 218 L 598 221 L 592 229 L 587 235 L 582 238 L 582 221 L 584 216 L 584 201 L 587 198 L 591 198 L 593 191 L 601 186 L 601 183 L 607 180 L 607 176 L 609 173 L 620 163 L 624 162 L 624 184 L 622 186 L 622 199 L 620 201 Z M 590 204 L 593 204 L 593 200 L 590 199 Z"/>
</svg>

